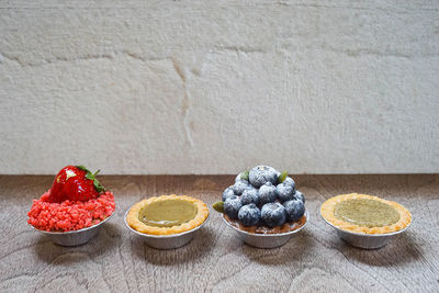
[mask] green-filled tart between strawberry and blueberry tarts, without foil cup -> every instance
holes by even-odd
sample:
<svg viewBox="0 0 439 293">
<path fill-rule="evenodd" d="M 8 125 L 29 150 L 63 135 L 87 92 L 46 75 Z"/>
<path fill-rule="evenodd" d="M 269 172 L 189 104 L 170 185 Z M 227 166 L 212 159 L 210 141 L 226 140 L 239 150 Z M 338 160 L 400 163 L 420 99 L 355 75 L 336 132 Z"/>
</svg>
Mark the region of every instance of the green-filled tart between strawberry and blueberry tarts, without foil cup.
<svg viewBox="0 0 439 293">
<path fill-rule="evenodd" d="M 126 222 L 139 233 L 171 235 L 200 226 L 207 216 L 207 205 L 202 201 L 171 194 L 153 196 L 134 204 Z"/>
</svg>

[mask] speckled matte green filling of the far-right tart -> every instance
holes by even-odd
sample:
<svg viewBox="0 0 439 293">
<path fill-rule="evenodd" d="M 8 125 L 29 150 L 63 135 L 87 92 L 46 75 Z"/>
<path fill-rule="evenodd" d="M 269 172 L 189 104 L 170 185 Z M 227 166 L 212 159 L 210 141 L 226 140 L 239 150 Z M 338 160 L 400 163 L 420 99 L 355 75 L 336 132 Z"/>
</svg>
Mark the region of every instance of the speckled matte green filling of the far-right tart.
<svg viewBox="0 0 439 293">
<path fill-rule="evenodd" d="M 390 226 L 399 221 L 399 214 L 393 206 L 367 199 L 342 201 L 335 206 L 334 215 L 338 219 L 369 228 Z"/>
</svg>

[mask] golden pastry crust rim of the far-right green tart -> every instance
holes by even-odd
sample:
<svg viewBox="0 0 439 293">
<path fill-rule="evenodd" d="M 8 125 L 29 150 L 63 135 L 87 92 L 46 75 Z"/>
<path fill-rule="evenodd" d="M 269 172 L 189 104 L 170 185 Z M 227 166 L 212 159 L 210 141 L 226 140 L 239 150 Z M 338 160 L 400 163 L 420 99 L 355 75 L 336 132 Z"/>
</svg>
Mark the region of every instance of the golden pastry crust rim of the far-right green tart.
<svg viewBox="0 0 439 293">
<path fill-rule="evenodd" d="M 356 224 L 348 223 L 348 222 L 337 218 L 334 215 L 336 204 L 340 203 L 342 201 L 346 201 L 346 200 L 353 200 L 353 199 L 374 200 L 374 201 L 380 201 L 380 202 L 386 203 L 396 210 L 396 212 L 399 214 L 399 219 L 398 219 L 398 222 L 396 222 L 392 225 L 387 225 L 387 226 L 362 227 L 362 226 L 358 226 Z M 329 200 L 327 200 L 326 202 L 324 202 L 322 204 L 320 214 L 326 221 L 328 221 L 330 224 L 333 224 L 334 226 L 336 226 L 342 230 L 348 230 L 348 232 L 353 232 L 353 233 L 364 233 L 364 234 L 386 234 L 386 233 L 397 232 L 397 230 L 404 229 L 412 223 L 412 214 L 403 205 L 401 205 L 396 202 L 380 199 L 378 196 L 368 195 L 368 194 L 359 194 L 359 193 L 340 194 L 340 195 L 330 198 Z"/>
</svg>

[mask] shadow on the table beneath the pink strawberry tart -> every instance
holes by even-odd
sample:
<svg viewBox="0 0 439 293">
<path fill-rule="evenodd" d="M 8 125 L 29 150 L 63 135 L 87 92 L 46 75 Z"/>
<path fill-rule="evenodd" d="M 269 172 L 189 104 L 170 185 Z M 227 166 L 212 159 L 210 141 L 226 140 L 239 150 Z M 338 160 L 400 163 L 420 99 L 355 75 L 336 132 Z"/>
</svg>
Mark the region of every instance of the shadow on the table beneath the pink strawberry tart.
<svg viewBox="0 0 439 293">
<path fill-rule="evenodd" d="M 115 249 L 120 241 L 120 227 L 112 223 L 105 223 L 99 235 L 85 245 L 64 247 L 54 244 L 48 236 L 41 235 L 34 249 L 38 259 L 46 263 L 70 264 L 104 255 Z"/>
</svg>

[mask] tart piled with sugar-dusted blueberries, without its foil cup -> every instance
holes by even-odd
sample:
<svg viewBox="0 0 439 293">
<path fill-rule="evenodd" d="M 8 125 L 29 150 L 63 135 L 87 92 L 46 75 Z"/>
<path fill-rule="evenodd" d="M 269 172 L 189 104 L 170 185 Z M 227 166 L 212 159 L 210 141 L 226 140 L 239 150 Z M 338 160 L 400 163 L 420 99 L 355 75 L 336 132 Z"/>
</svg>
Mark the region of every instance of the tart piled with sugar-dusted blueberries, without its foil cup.
<svg viewBox="0 0 439 293">
<path fill-rule="evenodd" d="M 305 196 L 294 180 L 262 165 L 239 173 L 213 207 L 233 226 L 255 234 L 288 233 L 306 223 Z"/>
</svg>

